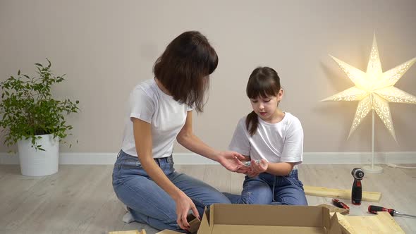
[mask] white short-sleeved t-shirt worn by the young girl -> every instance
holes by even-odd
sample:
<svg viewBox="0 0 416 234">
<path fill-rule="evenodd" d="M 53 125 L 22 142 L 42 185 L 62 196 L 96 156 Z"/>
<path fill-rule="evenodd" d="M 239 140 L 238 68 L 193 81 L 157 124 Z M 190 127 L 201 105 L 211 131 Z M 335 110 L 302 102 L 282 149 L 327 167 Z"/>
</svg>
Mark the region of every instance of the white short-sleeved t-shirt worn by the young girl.
<svg viewBox="0 0 416 234">
<path fill-rule="evenodd" d="M 267 123 L 259 118 L 255 135 L 250 136 L 241 118 L 235 128 L 229 149 L 250 156 L 266 159 L 271 163 L 290 162 L 300 164 L 303 154 L 303 130 L 298 118 L 286 112 L 279 123 Z"/>
</svg>

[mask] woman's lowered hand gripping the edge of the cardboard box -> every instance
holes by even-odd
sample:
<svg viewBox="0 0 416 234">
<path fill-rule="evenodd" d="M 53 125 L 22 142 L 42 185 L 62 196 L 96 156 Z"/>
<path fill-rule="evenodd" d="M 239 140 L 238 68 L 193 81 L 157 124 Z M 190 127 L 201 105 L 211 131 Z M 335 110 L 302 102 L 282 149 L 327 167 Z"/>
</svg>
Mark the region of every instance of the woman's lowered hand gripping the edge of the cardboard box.
<svg viewBox="0 0 416 234">
<path fill-rule="evenodd" d="M 199 218 L 200 214 L 198 214 L 197 207 L 192 202 L 192 200 L 182 193 L 177 199 L 176 202 L 176 223 L 178 223 L 179 227 L 183 230 L 189 230 L 190 225 L 186 217 L 188 216 L 188 212 L 191 210 L 195 217 Z"/>
</svg>

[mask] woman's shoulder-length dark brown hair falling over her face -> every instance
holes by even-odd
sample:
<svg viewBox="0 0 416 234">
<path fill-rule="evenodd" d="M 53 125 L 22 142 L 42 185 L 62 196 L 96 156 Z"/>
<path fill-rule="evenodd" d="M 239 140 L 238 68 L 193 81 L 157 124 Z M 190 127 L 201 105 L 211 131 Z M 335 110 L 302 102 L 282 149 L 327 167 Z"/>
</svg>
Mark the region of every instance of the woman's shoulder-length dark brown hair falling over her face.
<svg viewBox="0 0 416 234">
<path fill-rule="evenodd" d="M 189 31 L 173 39 L 157 58 L 153 72 L 173 99 L 202 112 L 209 75 L 217 65 L 218 56 L 207 37 Z"/>
</svg>

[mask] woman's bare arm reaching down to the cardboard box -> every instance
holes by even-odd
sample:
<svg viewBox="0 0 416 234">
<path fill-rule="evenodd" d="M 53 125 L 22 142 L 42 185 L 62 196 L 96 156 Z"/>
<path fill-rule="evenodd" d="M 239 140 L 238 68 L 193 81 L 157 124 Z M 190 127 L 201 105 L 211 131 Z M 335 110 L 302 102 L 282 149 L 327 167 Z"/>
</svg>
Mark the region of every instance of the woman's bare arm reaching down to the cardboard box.
<svg viewBox="0 0 416 234">
<path fill-rule="evenodd" d="M 199 217 L 197 208 L 192 200 L 178 187 L 171 183 L 161 168 L 156 164 L 152 157 L 152 129 L 150 124 L 138 118 L 133 119 L 133 134 L 135 146 L 142 167 L 152 180 L 165 190 L 176 202 L 176 214 L 178 225 L 187 230 L 190 228 L 186 216 L 192 210 L 195 216 Z"/>
</svg>

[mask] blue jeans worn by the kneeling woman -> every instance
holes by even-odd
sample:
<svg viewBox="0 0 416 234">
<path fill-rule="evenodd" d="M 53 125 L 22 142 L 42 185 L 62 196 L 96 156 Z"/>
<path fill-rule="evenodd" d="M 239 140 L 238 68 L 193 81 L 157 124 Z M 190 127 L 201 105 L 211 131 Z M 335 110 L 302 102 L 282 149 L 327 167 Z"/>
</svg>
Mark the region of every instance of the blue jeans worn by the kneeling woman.
<svg viewBox="0 0 416 234">
<path fill-rule="evenodd" d="M 205 206 L 231 203 L 214 187 L 183 173 L 177 173 L 173 168 L 172 156 L 154 161 L 167 178 L 192 199 L 201 217 Z M 114 164 L 113 187 L 118 199 L 126 204 L 135 221 L 147 223 L 159 230 L 185 232 L 176 223 L 176 203 L 147 175 L 136 156 L 123 151 L 118 154 Z"/>
</svg>

